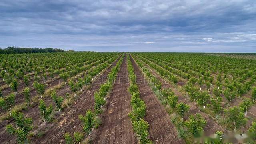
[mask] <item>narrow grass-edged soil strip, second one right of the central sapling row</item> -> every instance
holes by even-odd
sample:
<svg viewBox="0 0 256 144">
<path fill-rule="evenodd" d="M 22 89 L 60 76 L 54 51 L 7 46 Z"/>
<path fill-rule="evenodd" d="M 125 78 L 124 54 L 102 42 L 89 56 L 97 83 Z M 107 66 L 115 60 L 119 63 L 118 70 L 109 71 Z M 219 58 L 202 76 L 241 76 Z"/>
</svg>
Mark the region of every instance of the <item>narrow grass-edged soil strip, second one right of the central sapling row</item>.
<svg viewBox="0 0 256 144">
<path fill-rule="evenodd" d="M 184 102 L 184 103 L 186 103 L 190 106 L 190 110 L 189 110 L 188 114 L 200 113 L 204 117 L 204 119 L 207 122 L 206 127 L 204 127 L 204 132 L 205 132 L 206 135 L 214 134 L 214 132 L 216 132 L 217 130 L 221 130 L 223 132 L 226 132 L 226 130 L 224 128 L 222 128 L 222 126 L 220 126 L 216 121 L 214 121 L 213 119 L 210 119 L 208 114 L 200 111 L 198 109 L 198 106 L 196 105 L 196 102 L 190 102 L 190 100 L 188 100 L 188 98 L 186 98 L 186 96 L 183 96 L 182 93 L 178 91 L 178 89 L 174 88 L 174 86 L 172 86 L 168 82 L 168 80 L 163 79 L 158 74 L 158 72 L 156 72 L 156 70 L 152 69 L 150 66 L 148 66 L 144 62 L 143 62 L 143 64 L 144 64 L 144 66 L 146 66 L 150 70 L 150 73 L 152 75 L 156 76 L 156 78 L 158 80 L 160 80 L 160 82 L 162 83 L 162 88 L 171 88 L 172 91 L 178 96 L 178 102 Z M 188 114 L 185 116 L 184 120 L 188 119 Z"/>
</svg>

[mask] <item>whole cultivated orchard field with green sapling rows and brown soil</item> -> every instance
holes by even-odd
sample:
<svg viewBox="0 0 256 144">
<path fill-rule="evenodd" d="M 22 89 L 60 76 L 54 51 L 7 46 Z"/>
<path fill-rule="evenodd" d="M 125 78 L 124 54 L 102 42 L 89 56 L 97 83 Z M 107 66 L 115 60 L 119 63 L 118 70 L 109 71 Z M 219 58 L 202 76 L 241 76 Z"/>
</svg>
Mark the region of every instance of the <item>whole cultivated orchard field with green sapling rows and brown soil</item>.
<svg viewBox="0 0 256 144">
<path fill-rule="evenodd" d="M 0 143 L 255 142 L 254 54 L 0 54 Z"/>
</svg>

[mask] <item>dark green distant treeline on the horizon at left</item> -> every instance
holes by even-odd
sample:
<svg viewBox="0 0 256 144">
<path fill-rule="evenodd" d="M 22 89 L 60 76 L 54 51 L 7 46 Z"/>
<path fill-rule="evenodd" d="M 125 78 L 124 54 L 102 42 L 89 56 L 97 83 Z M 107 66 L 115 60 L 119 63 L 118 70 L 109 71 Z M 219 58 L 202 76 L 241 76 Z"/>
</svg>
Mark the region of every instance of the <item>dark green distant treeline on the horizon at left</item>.
<svg viewBox="0 0 256 144">
<path fill-rule="evenodd" d="M 58 48 L 19 48 L 19 47 L 8 47 L 0 48 L 0 54 L 22 54 L 22 53 L 38 53 L 38 52 L 66 52 L 65 50 Z"/>
</svg>

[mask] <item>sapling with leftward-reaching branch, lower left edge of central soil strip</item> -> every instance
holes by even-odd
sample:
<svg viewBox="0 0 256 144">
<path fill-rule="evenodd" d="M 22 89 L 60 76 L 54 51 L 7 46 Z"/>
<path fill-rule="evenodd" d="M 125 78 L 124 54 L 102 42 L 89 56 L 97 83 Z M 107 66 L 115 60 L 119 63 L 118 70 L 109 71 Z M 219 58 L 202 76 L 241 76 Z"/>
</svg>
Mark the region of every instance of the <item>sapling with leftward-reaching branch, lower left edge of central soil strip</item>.
<svg viewBox="0 0 256 144">
<path fill-rule="evenodd" d="M 85 116 L 79 115 L 79 119 L 84 123 L 84 132 L 90 135 L 92 128 L 95 125 L 95 115 L 92 110 L 87 110 Z"/>
</svg>

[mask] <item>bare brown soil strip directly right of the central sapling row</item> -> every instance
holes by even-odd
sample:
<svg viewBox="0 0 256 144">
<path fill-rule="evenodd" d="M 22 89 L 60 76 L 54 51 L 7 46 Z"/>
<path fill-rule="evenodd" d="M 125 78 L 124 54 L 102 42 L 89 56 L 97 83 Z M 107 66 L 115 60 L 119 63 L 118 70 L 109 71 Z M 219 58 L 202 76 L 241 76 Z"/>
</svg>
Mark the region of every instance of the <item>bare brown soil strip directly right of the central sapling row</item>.
<svg viewBox="0 0 256 144">
<path fill-rule="evenodd" d="M 130 54 L 129 54 L 130 56 Z M 149 124 L 150 139 L 156 144 L 183 144 L 183 140 L 177 136 L 177 130 L 171 123 L 170 116 L 164 107 L 154 96 L 154 92 L 149 87 L 148 82 L 142 75 L 140 68 L 130 56 L 134 72 L 137 76 L 137 84 L 140 89 L 140 96 L 147 105 L 145 120 Z"/>
</svg>

